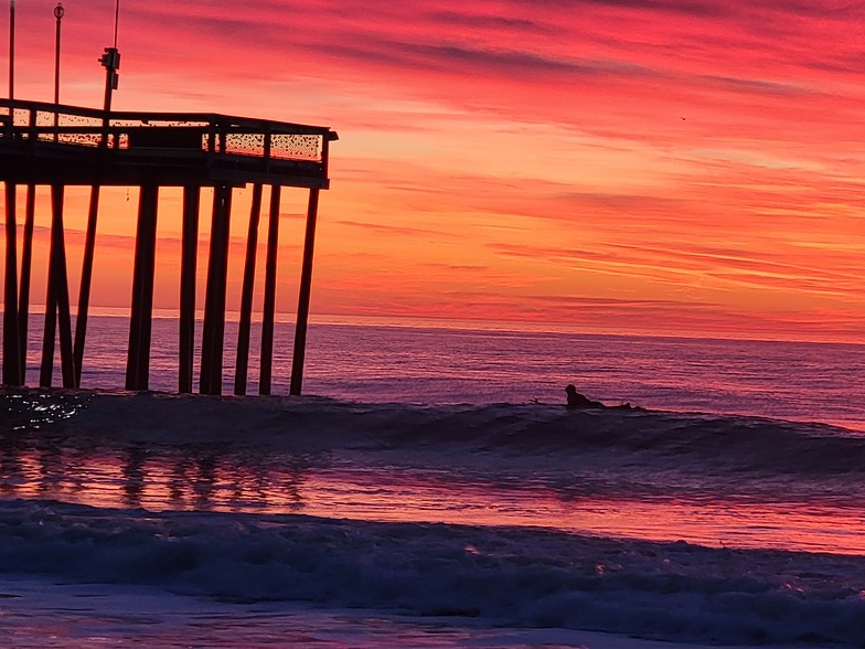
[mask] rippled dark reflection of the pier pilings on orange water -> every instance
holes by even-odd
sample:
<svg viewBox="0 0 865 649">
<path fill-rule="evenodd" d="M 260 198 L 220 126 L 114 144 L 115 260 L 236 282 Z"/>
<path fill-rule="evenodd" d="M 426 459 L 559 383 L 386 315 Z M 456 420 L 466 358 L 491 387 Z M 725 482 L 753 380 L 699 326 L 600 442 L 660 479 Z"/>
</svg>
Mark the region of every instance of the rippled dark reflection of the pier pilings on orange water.
<svg viewBox="0 0 865 649">
<path fill-rule="evenodd" d="M 237 453 L 232 445 L 84 444 L 44 425 L 4 426 L 0 493 L 95 507 L 297 511 L 310 471 L 330 461 L 324 453 Z"/>
</svg>

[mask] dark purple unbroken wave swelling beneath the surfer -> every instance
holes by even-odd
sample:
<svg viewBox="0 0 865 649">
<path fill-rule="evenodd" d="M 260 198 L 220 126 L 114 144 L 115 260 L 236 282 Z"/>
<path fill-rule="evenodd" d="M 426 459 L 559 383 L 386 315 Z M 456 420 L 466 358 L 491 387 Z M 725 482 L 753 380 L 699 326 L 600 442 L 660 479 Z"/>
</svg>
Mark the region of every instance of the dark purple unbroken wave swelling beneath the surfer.
<svg viewBox="0 0 865 649">
<path fill-rule="evenodd" d="M 7 390 L 0 434 L 117 444 L 233 444 L 273 449 L 442 449 L 541 457 L 567 465 L 610 453 L 658 468 L 856 475 L 865 436 L 824 424 L 558 405 L 423 406 L 324 397 L 212 397 L 164 393 Z"/>
</svg>

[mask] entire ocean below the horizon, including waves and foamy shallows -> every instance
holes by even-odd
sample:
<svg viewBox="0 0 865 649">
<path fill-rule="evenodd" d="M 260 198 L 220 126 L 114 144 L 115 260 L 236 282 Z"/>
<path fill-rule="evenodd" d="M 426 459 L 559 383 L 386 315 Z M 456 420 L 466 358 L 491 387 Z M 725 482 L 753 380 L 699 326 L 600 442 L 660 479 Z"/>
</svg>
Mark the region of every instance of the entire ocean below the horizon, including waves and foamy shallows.
<svg viewBox="0 0 865 649">
<path fill-rule="evenodd" d="M 865 646 L 865 345 L 330 321 L 289 397 L 282 324 L 209 397 L 177 332 L 0 394 L 0 646 Z"/>
</svg>

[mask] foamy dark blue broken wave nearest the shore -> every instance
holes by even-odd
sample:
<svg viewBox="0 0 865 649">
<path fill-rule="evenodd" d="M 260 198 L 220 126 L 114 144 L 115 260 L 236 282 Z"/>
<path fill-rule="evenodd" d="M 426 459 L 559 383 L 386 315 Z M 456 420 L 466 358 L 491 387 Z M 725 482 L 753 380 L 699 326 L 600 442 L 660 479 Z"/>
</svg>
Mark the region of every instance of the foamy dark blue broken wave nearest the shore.
<svg viewBox="0 0 865 649">
<path fill-rule="evenodd" d="M 0 501 L 3 573 L 680 642 L 865 641 L 865 557 Z"/>
</svg>

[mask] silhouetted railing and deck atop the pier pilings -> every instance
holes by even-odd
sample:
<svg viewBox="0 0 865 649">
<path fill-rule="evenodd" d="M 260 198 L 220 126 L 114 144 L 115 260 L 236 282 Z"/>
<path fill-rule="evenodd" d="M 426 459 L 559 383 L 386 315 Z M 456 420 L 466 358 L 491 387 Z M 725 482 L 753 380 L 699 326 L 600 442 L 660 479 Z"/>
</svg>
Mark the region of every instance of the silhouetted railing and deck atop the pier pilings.
<svg viewBox="0 0 865 649">
<path fill-rule="evenodd" d="M 84 163 L 99 168 L 103 184 L 137 184 L 130 183 L 136 174 L 154 174 L 161 184 L 261 181 L 327 189 L 335 139 L 327 127 L 212 113 L 105 113 L 0 99 L 0 151 L 13 167 L 0 173 L 9 180 L 20 174 L 32 182 L 42 169 L 38 182 L 60 174 L 67 184 L 76 177 L 87 184 L 90 173 L 74 167 Z"/>
</svg>

